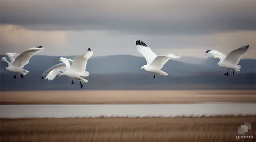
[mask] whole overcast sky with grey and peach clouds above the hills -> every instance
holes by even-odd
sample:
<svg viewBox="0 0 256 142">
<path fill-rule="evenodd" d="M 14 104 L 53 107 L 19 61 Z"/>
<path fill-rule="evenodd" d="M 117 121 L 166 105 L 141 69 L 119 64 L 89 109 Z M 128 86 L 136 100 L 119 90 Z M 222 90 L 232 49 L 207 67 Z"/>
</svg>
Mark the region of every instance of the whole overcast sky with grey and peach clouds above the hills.
<svg viewBox="0 0 256 142">
<path fill-rule="evenodd" d="M 228 54 L 250 45 L 255 58 L 255 0 L 0 1 L 0 54 L 42 45 L 38 55 L 140 56 L 135 40 L 156 54 Z M 3 50 L 2 50 L 3 49 Z"/>
</svg>

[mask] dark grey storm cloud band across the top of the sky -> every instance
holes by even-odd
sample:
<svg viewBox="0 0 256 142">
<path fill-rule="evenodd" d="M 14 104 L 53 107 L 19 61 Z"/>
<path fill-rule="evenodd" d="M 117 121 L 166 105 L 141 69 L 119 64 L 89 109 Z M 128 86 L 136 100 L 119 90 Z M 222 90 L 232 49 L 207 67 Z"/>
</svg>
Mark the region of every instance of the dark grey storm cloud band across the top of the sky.
<svg viewBox="0 0 256 142">
<path fill-rule="evenodd" d="M 33 30 L 113 30 L 130 34 L 208 34 L 256 30 L 250 0 L 1 1 L 1 24 Z"/>
</svg>

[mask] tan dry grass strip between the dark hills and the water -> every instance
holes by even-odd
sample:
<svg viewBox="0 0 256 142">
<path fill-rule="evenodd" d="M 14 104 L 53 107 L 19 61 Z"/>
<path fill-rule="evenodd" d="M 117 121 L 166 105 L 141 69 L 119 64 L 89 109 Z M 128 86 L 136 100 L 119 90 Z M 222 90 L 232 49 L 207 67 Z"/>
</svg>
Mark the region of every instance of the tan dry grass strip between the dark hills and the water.
<svg viewBox="0 0 256 142">
<path fill-rule="evenodd" d="M 102 90 L 25 91 L 0 93 L 1 104 L 164 104 L 198 102 L 256 102 L 255 90 Z"/>
</svg>

